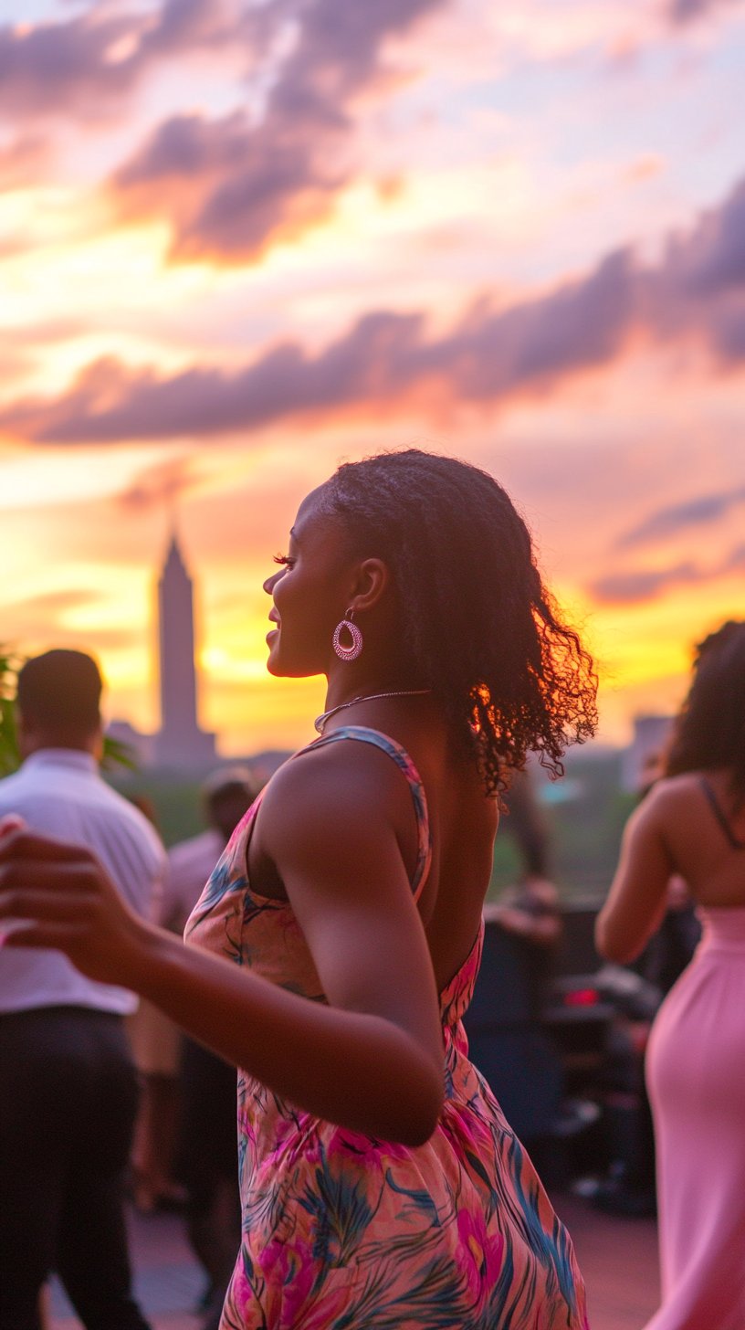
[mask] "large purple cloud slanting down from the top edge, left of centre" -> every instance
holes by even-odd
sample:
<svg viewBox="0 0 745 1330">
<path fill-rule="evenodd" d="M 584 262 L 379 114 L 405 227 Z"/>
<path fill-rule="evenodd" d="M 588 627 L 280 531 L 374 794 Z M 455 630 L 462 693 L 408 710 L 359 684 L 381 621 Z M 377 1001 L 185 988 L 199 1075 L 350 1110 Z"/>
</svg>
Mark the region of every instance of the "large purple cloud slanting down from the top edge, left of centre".
<svg viewBox="0 0 745 1330">
<path fill-rule="evenodd" d="M 323 219 L 351 174 L 351 104 L 380 80 L 380 49 L 448 0 L 273 4 L 265 24 L 298 24 L 265 112 L 177 114 L 112 177 L 126 217 L 165 215 L 172 257 L 254 258 Z"/>
</svg>

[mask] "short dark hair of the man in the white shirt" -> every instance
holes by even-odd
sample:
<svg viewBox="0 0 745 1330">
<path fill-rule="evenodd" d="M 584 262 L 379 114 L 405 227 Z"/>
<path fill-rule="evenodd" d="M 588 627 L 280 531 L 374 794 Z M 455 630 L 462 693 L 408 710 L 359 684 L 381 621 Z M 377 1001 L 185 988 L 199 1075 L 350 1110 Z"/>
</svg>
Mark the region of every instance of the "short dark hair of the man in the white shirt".
<svg viewBox="0 0 745 1330">
<path fill-rule="evenodd" d="M 98 666 L 85 652 L 44 652 L 19 673 L 17 704 L 37 725 L 90 734 L 101 722 L 102 686 Z"/>
</svg>

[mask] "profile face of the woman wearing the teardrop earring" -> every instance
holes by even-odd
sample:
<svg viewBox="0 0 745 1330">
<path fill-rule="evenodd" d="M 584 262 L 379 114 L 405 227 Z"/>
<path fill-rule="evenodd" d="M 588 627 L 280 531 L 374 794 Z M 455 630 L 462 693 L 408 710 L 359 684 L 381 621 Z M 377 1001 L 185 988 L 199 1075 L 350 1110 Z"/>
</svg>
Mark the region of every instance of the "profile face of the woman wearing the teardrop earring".
<svg viewBox="0 0 745 1330">
<path fill-rule="evenodd" d="M 303 499 L 282 568 L 263 584 L 274 601 L 266 668 L 286 678 L 327 672 L 334 628 L 354 589 L 354 565 L 345 557 L 341 525 L 321 511 L 321 493 L 314 489 Z"/>
</svg>

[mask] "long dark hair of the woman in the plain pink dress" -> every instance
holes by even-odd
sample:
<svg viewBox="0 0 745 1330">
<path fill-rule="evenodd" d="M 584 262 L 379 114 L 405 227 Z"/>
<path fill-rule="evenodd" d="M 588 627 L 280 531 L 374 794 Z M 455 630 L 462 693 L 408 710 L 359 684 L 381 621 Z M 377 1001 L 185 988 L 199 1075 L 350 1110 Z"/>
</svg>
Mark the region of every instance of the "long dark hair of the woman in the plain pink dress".
<svg viewBox="0 0 745 1330">
<path fill-rule="evenodd" d="M 665 774 L 729 769 L 733 793 L 745 798 L 745 624 L 728 620 L 696 653 Z"/>
</svg>

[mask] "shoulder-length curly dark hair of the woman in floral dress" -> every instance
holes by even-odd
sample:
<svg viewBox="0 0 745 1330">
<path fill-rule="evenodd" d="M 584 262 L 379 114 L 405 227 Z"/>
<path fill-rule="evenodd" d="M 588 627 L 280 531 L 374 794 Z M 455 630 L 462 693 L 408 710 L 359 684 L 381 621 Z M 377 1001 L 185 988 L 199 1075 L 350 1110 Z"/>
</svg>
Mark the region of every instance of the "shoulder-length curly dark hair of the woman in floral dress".
<svg viewBox="0 0 745 1330">
<path fill-rule="evenodd" d="M 488 793 L 529 750 L 561 774 L 567 745 L 595 732 L 597 681 L 508 493 L 419 448 L 345 463 L 325 489 L 353 548 L 388 564 L 416 678 L 442 700 Z"/>
</svg>

